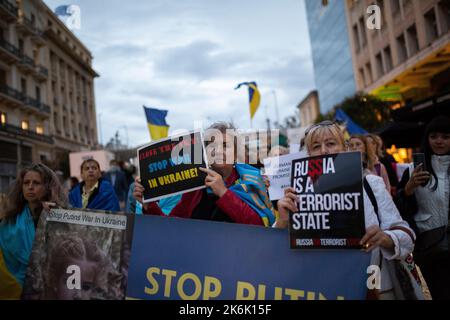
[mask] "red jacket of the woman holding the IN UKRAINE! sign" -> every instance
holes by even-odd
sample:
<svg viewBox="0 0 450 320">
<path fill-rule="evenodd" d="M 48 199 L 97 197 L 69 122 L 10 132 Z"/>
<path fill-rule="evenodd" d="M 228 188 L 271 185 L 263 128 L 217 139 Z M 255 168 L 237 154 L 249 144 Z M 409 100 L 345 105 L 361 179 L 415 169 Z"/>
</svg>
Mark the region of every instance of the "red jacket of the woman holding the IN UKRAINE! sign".
<svg viewBox="0 0 450 320">
<path fill-rule="evenodd" d="M 235 169 L 225 180 L 227 188 L 232 186 L 239 179 Z M 202 201 L 208 201 L 204 196 L 204 190 L 197 190 L 183 194 L 180 202 L 170 212 L 170 217 L 191 218 L 194 210 Z M 264 223 L 258 213 L 256 213 L 248 204 L 242 201 L 233 191 L 228 190 L 221 198 L 215 201 L 215 206 L 225 213 L 234 223 L 264 226 Z M 150 203 L 143 208 L 146 215 L 166 216 L 159 208 L 156 202 Z"/>
</svg>

